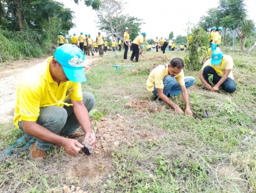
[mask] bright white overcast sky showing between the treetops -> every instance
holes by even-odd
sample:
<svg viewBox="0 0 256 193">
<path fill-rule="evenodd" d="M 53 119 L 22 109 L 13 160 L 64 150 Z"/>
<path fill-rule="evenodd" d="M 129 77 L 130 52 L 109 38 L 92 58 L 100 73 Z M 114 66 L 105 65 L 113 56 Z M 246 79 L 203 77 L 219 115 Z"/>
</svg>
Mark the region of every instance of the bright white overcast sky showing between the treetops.
<svg viewBox="0 0 256 193">
<path fill-rule="evenodd" d="M 91 34 L 95 39 L 98 33 L 96 11 L 91 7 L 86 7 L 83 0 L 79 1 L 79 5 L 73 0 L 57 0 L 63 2 L 65 7 L 75 12 L 74 23 L 76 28 L 69 31 L 69 35 L 73 33 Z M 124 0 L 125 1 L 125 0 Z M 186 36 L 188 20 L 191 24 L 197 24 L 199 18 L 206 13 L 209 8 L 219 5 L 219 0 L 127 0 L 127 8 L 124 14 L 129 13 L 144 20 L 141 26 L 141 32 L 147 33 L 147 39 L 155 39 L 158 37 L 168 38 L 168 34 L 173 31 L 174 37 L 181 35 Z M 256 0 L 246 0 L 248 16 L 256 22 Z M 216 26 L 218 27 L 218 26 Z M 101 33 L 105 36 L 105 33 Z"/>
</svg>

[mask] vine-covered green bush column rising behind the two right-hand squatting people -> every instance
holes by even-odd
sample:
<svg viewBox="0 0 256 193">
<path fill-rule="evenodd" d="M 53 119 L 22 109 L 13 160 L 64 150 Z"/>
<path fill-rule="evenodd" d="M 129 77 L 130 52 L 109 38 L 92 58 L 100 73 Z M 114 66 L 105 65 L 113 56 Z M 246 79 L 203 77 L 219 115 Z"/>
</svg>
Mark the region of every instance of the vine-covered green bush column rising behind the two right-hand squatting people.
<svg viewBox="0 0 256 193">
<path fill-rule="evenodd" d="M 201 27 L 192 28 L 187 55 L 184 57 L 186 68 L 199 71 L 202 68 L 203 57 L 207 55 L 209 36 Z"/>
</svg>

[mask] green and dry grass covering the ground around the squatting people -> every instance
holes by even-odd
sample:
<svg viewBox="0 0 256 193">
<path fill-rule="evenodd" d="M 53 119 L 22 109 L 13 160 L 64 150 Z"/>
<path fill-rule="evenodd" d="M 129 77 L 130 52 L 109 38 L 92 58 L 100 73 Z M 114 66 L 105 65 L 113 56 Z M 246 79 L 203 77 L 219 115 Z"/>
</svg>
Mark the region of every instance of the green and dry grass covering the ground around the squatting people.
<svg viewBox="0 0 256 193">
<path fill-rule="evenodd" d="M 125 127 L 133 125 L 133 131 L 147 132 L 150 139 L 137 134 L 129 139 L 130 145 L 111 149 L 105 155 L 112 160 L 111 169 L 96 179 L 73 176 L 66 180 L 68 160 L 74 158 L 67 158 L 63 148 L 51 148 L 43 163 L 31 162 L 25 151 L 18 159 L 10 157 L 2 162 L 0 189 L 11 192 L 11 186 L 14 191 L 33 192 L 36 186 L 37 191 L 44 192 L 77 185 L 78 179 L 83 180 L 79 182 L 83 190 L 89 192 L 255 192 L 255 53 L 223 52 L 235 62 L 235 93 L 204 91 L 199 72 L 184 70 L 185 75 L 196 78 L 188 93 L 197 118 L 178 115 L 165 104 L 158 104 L 160 110 L 156 113 L 124 108 L 129 101 L 152 101 L 146 89 L 150 69 L 174 57 L 183 59 L 183 52 L 167 51 L 164 57 L 161 52 L 146 52 L 139 63 L 124 63 L 121 54 L 115 59 L 107 52 L 95 61 L 96 67 L 86 72 L 88 81 L 82 84 L 83 90 L 94 94 L 95 109 L 106 113 L 106 118 L 115 121 L 116 114 L 120 114 Z M 135 66 L 119 68 L 118 73 L 111 67 L 127 64 Z M 182 96 L 171 100 L 184 109 Z M 203 110 L 208 110 L 211 118 L 201 118 Z M 19 137 L 17 130 L 10 134 L 10 125 L 0 126 L 2 147 Z"/>
</svg>

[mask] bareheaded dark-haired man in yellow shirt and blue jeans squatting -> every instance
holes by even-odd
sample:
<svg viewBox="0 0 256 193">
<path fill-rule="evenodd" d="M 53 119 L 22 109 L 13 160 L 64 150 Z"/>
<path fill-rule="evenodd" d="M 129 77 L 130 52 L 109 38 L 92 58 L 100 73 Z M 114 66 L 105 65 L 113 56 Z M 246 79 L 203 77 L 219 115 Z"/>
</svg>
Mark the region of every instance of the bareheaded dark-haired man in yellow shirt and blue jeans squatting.
<svg viewBox="0 0 256 193">
<path fill-rule="evenodd" d="M 176 58 L 168 65 L 159 65 L 149 74 L 147 79 L 147 90 L 155 95 L 154 100 L 162 100 L 177 112 L 184 113 L 181 107 L 169 100 L 169 96 L 176 96 L 182 93 L 186 104 L 185 113 L 193 115 L 190 110 L 187 89 L 194 84 L 194 77 L 184 77 L 184 62 Z M 160 99 L 159 99 L 160 98 Z"/>
</svg>

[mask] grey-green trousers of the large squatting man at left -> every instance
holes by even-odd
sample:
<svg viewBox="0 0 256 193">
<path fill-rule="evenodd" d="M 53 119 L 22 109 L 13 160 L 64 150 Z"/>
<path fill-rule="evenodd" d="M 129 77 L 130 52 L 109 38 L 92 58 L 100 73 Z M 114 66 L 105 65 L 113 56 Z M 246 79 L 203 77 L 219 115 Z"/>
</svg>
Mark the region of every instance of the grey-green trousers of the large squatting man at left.
<svg viewBox="0 0 256 193">
<path fill-rule="evenodd" d="M 70 98 L 66 98 L 65 103 L 71 103 Z M 83 92 L 83 103 L 88 112 L 92 110 L 95 105 L 95 98 L 89 92 Z M 40 108 L 40 115 L 36 121 L 37 124 L 47 128 L 53 133 L 60 134 L 75 134 L 78 127 L 80 127 L 77 118 L 73 111 L 73 106 L 64 107 L 42 107 Z M 24 132 L 21 121 L 19 121 L 19 128 Z M 43 151 L 50 150 L 53 144 L 36 139 L 36 147 Z"/>
</svg>

